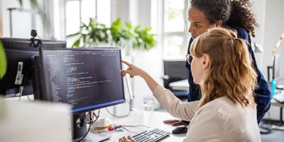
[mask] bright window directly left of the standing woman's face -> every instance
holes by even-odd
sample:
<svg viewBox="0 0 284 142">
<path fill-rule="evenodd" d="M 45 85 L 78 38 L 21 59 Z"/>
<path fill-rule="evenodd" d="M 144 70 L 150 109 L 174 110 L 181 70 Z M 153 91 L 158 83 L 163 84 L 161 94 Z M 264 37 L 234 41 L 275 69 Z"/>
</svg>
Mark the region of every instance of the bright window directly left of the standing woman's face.
<svg viewBox="0 0 284 142">
<path fill-rule="evenodd" d="M 164 59 L 182 59 L 190 39 L 187 25 L 188 0 L 163 0 L 162 47 Z"/>
</svg>

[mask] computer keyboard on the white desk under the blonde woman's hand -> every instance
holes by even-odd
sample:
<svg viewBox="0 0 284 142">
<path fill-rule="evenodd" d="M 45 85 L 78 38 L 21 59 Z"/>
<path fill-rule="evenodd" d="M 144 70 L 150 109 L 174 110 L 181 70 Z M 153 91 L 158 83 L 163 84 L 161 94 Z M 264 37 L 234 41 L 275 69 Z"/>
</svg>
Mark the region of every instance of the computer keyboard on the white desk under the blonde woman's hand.
<svg viewBox="0 0 284 142">
<path fill-rule="evenodd" d="M 136 142 L 155 142 L 170 135 L 170 132 L 161 129 L 150 129 L 132 136 Z"/>
</svg>

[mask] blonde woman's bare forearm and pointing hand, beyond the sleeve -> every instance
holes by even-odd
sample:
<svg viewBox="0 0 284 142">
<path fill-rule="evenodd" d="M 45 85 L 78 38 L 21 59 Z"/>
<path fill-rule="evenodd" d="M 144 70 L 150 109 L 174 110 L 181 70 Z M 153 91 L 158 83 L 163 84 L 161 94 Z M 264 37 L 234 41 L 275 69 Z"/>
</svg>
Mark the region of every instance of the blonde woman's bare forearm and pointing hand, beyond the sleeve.
<svg viewBox="0 0 284 142">
<path fill-rule="evenodd" d="M 151 89 L 151 91 L 152 92 L 154 91 L 154 89 L 155 89 L 155 87 L 157 87 L 158 83 L 150 75 L 148 75 L 147 72 L 145 72 L 144 70 L 141 70 L 140 68 L 136 67 L 135 65 L 132 65 L 131 63 L 126 62 L 124 60 L 121 60 L 121 62 L 124 62 L 124 64 L 129 66 L 129 68 L 127 70 L 121 70 L 120 71 L 122 73 L 122 77 L 124 77 L 126 74 L 131 75 L 131 77 L 138 75 L 146 81 L 146 83 L 148 84 L 148 87 Z"/>
</svg>

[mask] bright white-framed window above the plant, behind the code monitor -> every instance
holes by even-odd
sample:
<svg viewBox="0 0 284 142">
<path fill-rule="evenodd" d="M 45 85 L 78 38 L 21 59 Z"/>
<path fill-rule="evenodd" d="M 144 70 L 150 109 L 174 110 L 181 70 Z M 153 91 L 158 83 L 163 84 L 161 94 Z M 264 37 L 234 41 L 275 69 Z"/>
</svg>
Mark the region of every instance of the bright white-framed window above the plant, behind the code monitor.
<svg viewBox="0 0 284 142">
<path fill-rule="evenodd" d="M 111 0 L 67 0 L 66 35 L 77 33 L 81 23 L 89 23 L 94 18 L 99 23 L 111 25 Z M 67 39 L 67 47 L 71 47 L 75 38 Z"/>
</svg>

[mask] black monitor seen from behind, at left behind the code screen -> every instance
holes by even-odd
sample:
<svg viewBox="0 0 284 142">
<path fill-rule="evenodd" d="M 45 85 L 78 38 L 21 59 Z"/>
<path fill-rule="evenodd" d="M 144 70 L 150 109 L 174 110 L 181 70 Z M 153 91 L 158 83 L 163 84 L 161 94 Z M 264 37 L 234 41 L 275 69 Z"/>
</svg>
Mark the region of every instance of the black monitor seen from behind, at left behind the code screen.
<svg viewBox="0 0 284 142">
<path fill-rule="evenodd" d="M 7 58 L 7 72 L 0 80 L 0 94 L 18 97 L 33 94 L 33 65 L 39 48 L 66 48 L 66 41 L 1 38 Z M 40 41 L 40 43 L 38 43 Z"/>
</svg>

